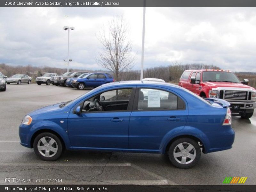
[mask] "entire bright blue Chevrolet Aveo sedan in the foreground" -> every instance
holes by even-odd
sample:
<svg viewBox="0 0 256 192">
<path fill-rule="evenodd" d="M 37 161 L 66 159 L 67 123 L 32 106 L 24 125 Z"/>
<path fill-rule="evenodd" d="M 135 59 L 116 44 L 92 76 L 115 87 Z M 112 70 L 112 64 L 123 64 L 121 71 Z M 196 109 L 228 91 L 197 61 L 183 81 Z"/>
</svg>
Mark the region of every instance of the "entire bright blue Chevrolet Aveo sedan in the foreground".
<svg viewBox="0 0 256 192">
<path fill-rule="evenodd" d="M 166 154 L 179 168 L 232 148 L 229 103 L 163 82 L 104 84 L 72 101 L 38 109 L 20 125 L 21 145 L 42 160 L 64 149 Z"/>
</svg>

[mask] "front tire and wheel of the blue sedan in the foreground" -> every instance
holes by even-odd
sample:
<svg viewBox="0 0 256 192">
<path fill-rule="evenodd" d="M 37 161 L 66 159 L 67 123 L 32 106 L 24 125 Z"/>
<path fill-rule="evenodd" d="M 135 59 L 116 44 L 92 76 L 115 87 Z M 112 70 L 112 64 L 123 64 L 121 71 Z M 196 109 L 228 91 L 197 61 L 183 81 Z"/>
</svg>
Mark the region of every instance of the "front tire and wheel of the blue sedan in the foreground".
<svg viewBox="0 0 256 192">
<path fill-rule="evenodd" d="M 50 141 L 52 142 L 52 145 L 48 143 Z M 44 161 L 55 161 L 62 154 L 62 143 L 60 138 L 49 132 L 37 135 L 33 142 L 33 147 L 36 155 Z M 46 151 L 49 151 L 49 154 Z"/>
</svg>

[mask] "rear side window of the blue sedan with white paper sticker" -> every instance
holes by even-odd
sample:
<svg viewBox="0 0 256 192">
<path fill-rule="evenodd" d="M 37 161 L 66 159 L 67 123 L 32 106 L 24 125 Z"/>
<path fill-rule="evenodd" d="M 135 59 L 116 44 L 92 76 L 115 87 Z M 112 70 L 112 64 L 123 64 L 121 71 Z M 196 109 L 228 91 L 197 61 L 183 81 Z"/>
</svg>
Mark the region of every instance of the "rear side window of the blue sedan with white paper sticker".
<svg viewBox="0 0 256 192">
<path fill-rule="evenodd" d="M 138 110 L 178 110 L 185 103 L 175 94 L 158 89 L 139 89 Z"/>
</svg>

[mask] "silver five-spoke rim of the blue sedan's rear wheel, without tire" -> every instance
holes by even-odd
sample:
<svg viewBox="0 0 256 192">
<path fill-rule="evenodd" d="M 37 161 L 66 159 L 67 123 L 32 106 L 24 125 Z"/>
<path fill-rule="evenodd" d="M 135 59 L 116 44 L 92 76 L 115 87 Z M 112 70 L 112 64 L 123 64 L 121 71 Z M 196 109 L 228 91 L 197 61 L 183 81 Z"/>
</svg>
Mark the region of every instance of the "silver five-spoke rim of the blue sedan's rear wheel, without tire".
<svg viewBox="0 0 256 192">
<path fill-rule="evenodd" d="M 173 150 L 174 159 L 180 164 L 189 164 L 196 158 L 196 149 L 187 142 L 178 144 Z"/>
</svg>

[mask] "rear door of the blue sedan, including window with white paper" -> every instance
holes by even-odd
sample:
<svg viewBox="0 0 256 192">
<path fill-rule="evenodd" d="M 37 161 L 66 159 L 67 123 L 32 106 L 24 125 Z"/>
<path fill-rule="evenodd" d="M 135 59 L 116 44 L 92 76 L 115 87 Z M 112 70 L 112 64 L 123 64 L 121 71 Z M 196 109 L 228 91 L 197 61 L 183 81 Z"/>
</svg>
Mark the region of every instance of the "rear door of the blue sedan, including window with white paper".
<svg viewBox="0 0 256 192">
<path fill-rule="evenodd" d="M 158 151 L 168 132 L 184 128 L 184 99 L 166 89 L 138 87 L 129 123 L 129 148 Z"/>
</svg>

